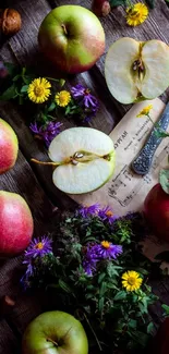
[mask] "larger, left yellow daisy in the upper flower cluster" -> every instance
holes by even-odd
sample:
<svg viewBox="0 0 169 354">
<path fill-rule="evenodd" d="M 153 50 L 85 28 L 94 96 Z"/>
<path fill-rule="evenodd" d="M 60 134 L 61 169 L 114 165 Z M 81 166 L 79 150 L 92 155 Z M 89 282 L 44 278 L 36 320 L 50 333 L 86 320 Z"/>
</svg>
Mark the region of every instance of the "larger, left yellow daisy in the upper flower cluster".
<svg viewBox="0 0 169 354">
<path fill-rule="evenodd" d="M 44 103 L 47 101 L 50 93 L 51 84 L 45 77 L 33 80 L 28 85 L 27 95 L 34 103 Z"/>
</svg>

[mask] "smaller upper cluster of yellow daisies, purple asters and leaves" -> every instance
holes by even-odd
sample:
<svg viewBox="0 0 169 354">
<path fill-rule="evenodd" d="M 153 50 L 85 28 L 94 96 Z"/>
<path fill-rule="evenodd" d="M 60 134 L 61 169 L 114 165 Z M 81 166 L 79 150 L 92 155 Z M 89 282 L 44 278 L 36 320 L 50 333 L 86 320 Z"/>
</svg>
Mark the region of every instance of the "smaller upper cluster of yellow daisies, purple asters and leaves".
<svg viewBox="0 0 169 354">
<path fill-rule="evenodd" d="M 2 86 L 0 100 L 17 99 L 20 105 L 29 102 L 34 117 L 29 129 L 36 138 L 48 147 L 61 132 L 58 117 L 73 118 L 77 123 L 88 123 L 97 113 L 99 103 L 87 87 L 81 84 L 65 89 L 63 78 L 36 77 L 27 68 L 15 66 L 0 61 Z"/>
</svg>

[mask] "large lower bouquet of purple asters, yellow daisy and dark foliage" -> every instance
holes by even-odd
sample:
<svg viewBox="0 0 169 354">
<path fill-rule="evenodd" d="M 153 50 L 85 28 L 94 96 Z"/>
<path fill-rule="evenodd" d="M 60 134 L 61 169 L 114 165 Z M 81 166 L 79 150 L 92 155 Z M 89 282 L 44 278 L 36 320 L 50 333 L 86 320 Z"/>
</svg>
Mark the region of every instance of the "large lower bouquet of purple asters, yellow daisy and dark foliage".
<svg viewBox="0 0 169 354">
<path fill-rule="evenodd" d="M 153 329 L 148 305 L 156 300 L 149 263 L 137 251 L 144 232 L 140 213 L 118 218 L 98 204 L 67 212 L 50 237 L 31 243 L 21 283 L 53 292 L 56 309 L 59 304 L 84 320 L 96 353 L 144 346 Z"/>
</svg>

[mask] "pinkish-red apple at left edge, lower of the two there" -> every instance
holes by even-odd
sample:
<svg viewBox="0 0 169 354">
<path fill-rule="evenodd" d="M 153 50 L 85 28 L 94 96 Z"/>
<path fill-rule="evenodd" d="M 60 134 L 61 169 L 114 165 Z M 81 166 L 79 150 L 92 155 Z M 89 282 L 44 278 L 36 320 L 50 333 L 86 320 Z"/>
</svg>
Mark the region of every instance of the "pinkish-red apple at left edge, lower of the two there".
<svg viewBox="0 0 169 354">
<path fill-rule="evenodd" d="M 27 203 L 19 194 L 0 191 L 0 255 L 23 252 L 33 235 L 34 222 Z"/>
</svg>

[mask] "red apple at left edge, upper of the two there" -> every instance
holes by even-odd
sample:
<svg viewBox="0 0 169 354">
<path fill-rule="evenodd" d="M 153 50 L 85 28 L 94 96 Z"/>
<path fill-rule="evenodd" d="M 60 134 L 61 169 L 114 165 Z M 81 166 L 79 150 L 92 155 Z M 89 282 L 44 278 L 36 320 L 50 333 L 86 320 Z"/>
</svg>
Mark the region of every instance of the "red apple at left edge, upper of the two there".
<svg viewBox="0 0 169 354">
<path fill-rule="evenodd" d="M 19 141 L 15 132 L 0 119 L 0 174 L 9 171 L 16 161 Z"/>
</svg>

